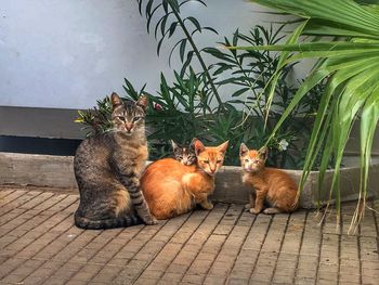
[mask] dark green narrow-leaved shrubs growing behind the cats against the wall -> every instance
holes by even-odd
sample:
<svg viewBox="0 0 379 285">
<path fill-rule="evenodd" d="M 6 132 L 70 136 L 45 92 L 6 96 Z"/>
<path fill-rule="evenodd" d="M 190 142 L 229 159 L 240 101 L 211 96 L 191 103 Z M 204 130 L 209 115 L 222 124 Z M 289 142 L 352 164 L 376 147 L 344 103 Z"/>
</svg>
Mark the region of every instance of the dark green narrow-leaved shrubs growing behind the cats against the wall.
<svg viewBox="0 0 379 285">
<path fill-rule="evenodd" d="M 171 139 L 188 144 L 197 137 L 209 144 L 228 140 L 231 147 L 225 164 L 238 165 L 239 144 L 245 142 L 251 147 L 262 146 L 280 119 L 283 111 L 291 102 L 297 91 L 296 83 L 288 83 L 292 65 L 286 66 L 277 76 L 278 83 L 275 88 L 265 92 L 265 85 L 275 75 L 280 57 L 270 51 L 235 51 L 213 47 L 199 49 L 196 37 L 193 36 L 204 30 L 215 30 L 202 27 L 193 16 L 182 17 L 182 8 L 187 2 L 138 0 L 140 13 L 143 14 L 144 11 L 147 18 L 148 33 L 155 22 L 154 35 L 158 40 L 158 54 L 165 40 L 174 34 L 183 36 L 169 55 L 170 61 L 174 50 L 179 49 L 182 68 L 180 72 L 173 70 L 172 83 L 161 74 L 159 90 L 154 94 L 146 92 L 145 86 L 138 90 L 125 79 L 125 100 L 136 100 L 142 93 L 148 94 L 151 99 L 146 116 L 151 159 L 170 154 Z M 201 1 L 197 2 L 205 5 Z M 282 39 L 282 29 L 283 26 L 278 29 L 273 26 L 269 29 L 257 26 L 247 35 L 237 29 L 233 37 L 225 37 L 219 46 L 274 44 Z M 202 59 L 205 54 L 208 63 Z M 193 68 L 193 59 L 197 59 L 201 67 L 199 70 Z M 308 140 L 310 130 L 301 120 L 312 119 L 315 113 L 318 104 L 316 94 L 319 93 L 317 87 L 310 90 L 313 94 L 306 96 L 309 100 L 290 113 L 290 119 L 283 124 L 270 141 L 271 165 L 282 168 L 299 168 L 303 165 L 304 152 L 301 145 L 302 141 Z M 230 90 L 233 90 L 232 94 Z M 214 98 L 220 99 L 220 94 L 224 95 L 222 108 L 220 100 L 213 102 Z M 271 94 L 275 99 L 272 100 Z M 271 113 L 266 109 L 267 101 L 272 103 Z M 87 125 L 89 134 L 93 134 L 107 131 L 112 127 L 109 116 L 109 99 L 106 98 L 97 101 L 94 109 L 79 113 L 78 121 Z"/>
</svg>

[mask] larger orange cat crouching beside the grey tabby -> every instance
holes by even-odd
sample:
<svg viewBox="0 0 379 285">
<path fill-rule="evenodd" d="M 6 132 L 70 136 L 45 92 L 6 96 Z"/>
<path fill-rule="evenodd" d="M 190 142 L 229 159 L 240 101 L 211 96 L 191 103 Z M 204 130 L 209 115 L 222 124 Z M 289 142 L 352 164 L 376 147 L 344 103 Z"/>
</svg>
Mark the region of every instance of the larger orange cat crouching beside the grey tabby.
<svg viewBox="0 0 379 285">
<path fill-rule="evenodd" d="M 186 166 L 172 158 L 151 164 L 141 178 L 141 187 L 157 219 L 179 216 L 199 204 L 204 209 L 212 209 L 208 196 L 214 190 L 214 174 L 223 164 L 227 142 L 205 147 L 194 140 L 197 163 Z"/>
</svg>

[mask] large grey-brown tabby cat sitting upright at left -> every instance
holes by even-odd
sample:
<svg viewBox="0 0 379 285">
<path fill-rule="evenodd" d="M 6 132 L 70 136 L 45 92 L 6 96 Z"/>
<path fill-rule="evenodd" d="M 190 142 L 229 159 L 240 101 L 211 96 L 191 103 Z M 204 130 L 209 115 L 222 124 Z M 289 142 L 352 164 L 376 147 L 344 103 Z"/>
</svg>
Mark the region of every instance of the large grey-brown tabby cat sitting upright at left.
<svg viewBox="0 0 379 285">
<path fill-rule="evenodd" d="M 83 140 L 74 159 L 80 192 L 75 224 L 82 229 L 156 223 L 139 182 L 147 159 L 147 98 L 122 102 L 113 93 L 110 101 L 113 130 Z"/>
</svg>

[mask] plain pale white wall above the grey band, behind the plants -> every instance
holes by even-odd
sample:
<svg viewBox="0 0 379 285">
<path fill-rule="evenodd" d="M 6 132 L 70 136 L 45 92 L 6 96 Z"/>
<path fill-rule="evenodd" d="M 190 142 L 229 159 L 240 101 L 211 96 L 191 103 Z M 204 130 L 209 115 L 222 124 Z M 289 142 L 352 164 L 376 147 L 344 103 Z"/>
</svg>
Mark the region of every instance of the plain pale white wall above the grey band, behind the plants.
<svg viewBox="0 0 379 285">
<path fill-rule="evenodd" d="M 206 2 L 186 11 L 221 37 L 269 25 L 267 15 L 257 13 L 261 8 L 247 1 Z M 112 91 L 122 93 L 125 77 L 157 90 L 160 72 L 172 75 L 171 44 L 158 57 L 145 23 L 134 0 L 1 0 L 0 105 L 87 108 Z M 209 35 L 202 44 L 218 40 Z"/>
</svg>

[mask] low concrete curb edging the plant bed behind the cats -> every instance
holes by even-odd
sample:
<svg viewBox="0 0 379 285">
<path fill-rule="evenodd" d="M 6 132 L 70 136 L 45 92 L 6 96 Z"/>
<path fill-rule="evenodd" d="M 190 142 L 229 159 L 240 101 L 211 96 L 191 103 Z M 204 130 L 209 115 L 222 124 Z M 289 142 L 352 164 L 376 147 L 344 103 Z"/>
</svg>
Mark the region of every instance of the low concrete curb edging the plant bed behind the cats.
<svg viewBox="0 0 379 285">
<path fill-rule="evenodd" d="M 73 156 L 51 156 L 0 153 L 0 184 L 35 185 L 43 187 L 77 189 L 74 176 Z M 298 183 L 301 170 L 285 170 Z M 327 171 L 321 193 L 321 202 L 329 196 L 332 170 Z M 357 198 L 360 190 L 360 167 L 343 168 L 341 170 L 342 200 Z M 379 196 L 379 165 L 373 165 L 370 169 L 369 195 Z M 300 206 L 315 208 L 317 205 L 318 171 L 312 171 L 305 182 L 300 196 Z M 334 198 L 334 196 L 332 196 Z M 233 166 L 223 167 L 215 178 L 215 191 L 213 200 L 224 203 L 247 203 L 247 190 L 241 184 L 240 168 Z"/>
</svg>

